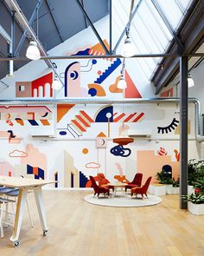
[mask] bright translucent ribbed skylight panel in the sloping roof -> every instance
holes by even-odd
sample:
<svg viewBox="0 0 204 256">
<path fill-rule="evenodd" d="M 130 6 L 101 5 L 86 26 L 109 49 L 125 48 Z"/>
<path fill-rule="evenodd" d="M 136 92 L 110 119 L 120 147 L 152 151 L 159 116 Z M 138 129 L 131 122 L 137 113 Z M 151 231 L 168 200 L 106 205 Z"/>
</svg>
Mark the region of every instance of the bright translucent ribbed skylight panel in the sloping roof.
<svg viewBox="0 0 204 256">
<path fill-rule="evenodd" d="M 165 53 L 173 39 L 173 33 L 182 22 L 189 5 L 193 0 L 136 0 L 132 12 L 137 9 L 131 20 L 130 36 L 136 48 L 136 54 Z M 139 6 L 137 8 L 137 4 Z M 154 3 L 154 4 L 153 4 Z M 129 21 L 131 0 L 112 0 L 112 49 Z M 119 43 L 117 54 L 120 54 Z M 137 58 L 143 64 L 143 73 L 150 76 L 162 58 Z"/>
</svg>

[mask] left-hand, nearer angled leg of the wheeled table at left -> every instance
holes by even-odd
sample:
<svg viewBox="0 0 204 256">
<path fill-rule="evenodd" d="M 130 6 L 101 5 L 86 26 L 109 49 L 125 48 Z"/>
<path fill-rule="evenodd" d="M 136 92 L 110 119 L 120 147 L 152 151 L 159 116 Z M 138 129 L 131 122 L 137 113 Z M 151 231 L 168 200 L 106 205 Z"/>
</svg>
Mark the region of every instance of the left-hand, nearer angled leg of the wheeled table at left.
<svg viewBox="0 0 204 256">
<path fill-rule="evenodd" d="M 14 223 L 14 231 L 10 240 L 14 242 L 15 246 L 18 246 L 18 238 L 22 226 L 22 217 L 24 213 L 25 203 L 27 199 L 28 189 L 27 188 L 19 188 L 17 206 L 16 206 L 16 216 L 15 216 L 15 223 Z"/>
</svg>

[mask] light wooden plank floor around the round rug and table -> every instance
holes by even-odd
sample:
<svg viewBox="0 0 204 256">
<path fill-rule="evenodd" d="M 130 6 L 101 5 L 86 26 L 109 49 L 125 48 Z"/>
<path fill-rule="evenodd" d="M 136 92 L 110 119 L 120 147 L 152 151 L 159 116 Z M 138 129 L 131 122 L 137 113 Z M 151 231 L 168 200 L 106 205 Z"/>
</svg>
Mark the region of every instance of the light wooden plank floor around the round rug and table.
<svg viewBox="0 0 204 256">
<path fill-rule="evenodd" d="M 90 191 L 43 191 L 49 232 L 42 236 L 34 195 L 29 194 L 34 227 L 25 211 L 20 246 L 0 239 L 1 256 L 204 255 L 204 215 L 179 209 L 178 195 L 153 207 L 99 207 L 86 203 Z"/>
</svg>

